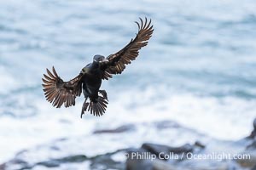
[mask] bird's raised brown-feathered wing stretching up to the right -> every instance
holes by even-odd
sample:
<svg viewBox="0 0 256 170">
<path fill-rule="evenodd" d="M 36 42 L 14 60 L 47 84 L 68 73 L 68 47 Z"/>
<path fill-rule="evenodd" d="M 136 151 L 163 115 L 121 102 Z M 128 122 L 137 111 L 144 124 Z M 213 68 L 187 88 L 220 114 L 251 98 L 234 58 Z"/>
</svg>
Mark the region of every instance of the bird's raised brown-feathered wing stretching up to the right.
<svg viewBox="0 0 256 170">
<path fill-rule="evenodd" d="M 131 64 L 131 60 L 137 58 L 139 49 L 143 48 L 148 44 L 149 38 L 152 36 L 154 31 L 151 25 L 151 20 L 145 18 L 145 22 L 140 18 L 140 24 L 136 21 L 138 26 L 137 36 L 131 39 L 125 48 L 122 48 L 116 54 L 110 54 L 107 59 L 106 65 L 104 65 L 103 79 L 112 77 L 113 74 L 121 74 L 125 70 L 125 65 Z"/>
</svg>

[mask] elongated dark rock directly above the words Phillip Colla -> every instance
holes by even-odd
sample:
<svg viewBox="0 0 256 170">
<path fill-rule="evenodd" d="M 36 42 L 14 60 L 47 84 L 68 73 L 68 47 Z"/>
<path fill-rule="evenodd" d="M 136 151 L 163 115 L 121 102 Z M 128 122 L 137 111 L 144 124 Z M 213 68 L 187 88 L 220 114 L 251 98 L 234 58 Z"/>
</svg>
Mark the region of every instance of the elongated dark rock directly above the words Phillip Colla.
<svg viewBox="0 0 256 170">
<path fill-rule="evenodd" d="M 184 144 L 180 147 L 171 147 L 164 144 L 150 144 L 145 143 L 143 144 L 142 148 L 144 150 L 148 150 L 152 154 L 155 154 L 156 156 L 160 156 L 160 153 L 164 153 L 164 155 L 168 155 L 170 153 L 173 154 L 182 154 L 182 153 L 188 153 L 193 151 L 193 146 L 191 144 Z"/>
</svg>

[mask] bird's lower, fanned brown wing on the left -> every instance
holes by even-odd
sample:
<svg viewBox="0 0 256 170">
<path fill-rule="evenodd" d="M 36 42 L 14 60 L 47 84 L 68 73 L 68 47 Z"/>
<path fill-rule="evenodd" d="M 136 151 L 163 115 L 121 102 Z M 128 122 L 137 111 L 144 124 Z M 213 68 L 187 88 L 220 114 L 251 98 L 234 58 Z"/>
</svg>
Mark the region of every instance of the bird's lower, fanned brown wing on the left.
<svg viewBox="0 0 256 170">
<path fill-rule="evenodd" d="M 44 74 L 44 78 L 42 78 L 45 98 L 57 108 L 63 104 L 65 107 L 75 105 L 75 98 L 82 92 L 81 77 L 83 74 L 80 73 L 72 80 L 63 82 L 54 67 L 52 67 L 53 73 L 48 69 L 46 71 L 48 75 Z"/>
</svg>

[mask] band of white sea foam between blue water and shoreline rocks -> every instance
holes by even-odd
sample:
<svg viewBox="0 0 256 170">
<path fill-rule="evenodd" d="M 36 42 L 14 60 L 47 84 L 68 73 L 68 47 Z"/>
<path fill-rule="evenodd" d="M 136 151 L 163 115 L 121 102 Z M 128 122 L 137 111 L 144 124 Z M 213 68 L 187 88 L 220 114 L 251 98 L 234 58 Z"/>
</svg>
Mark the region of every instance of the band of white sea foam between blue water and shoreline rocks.
<svg viewBox="0 0 256 170">
<path fill-rule="evenodd" d="M 172 94 L 160 99 L 161 92 L 160 90 L 157 92 L 158 94 L 155 94 L 155 89 L 152 90 L 152 88 L 146 88 L 141 92 L 136 90 L 124 92 L 116 99 L 110 100 L 107 113 L 100 118 L 86 114 L 84 119 L 80 119 L 81 102 L 76 107 L 57 110 L 44 100 L 38 100 L 38 116 L 23 119 L 13 119 L 7 116 L 1 119 L 0 128 L 5 130 L 2 132 L 3 140 L 1 140 L 0 148 L 1 153 L 7 153 L 2 155 L 1 159 L 13 156 L 17 150 L 59 138 L 77 139 L 79 136 L 87 136 L 84 137 L 83 144 L 93 148 L 91 151 L 89 148 L 89 151 L 86 150 L 86 153 L 90 155 L 106 151 L 102 150 L 102 147 L 94 145 L 101 141 L 104 141 L 104 147 L 108 149 L 111 149 L 111 146 L 113 149 L 120 149 L 128 147 L 129 144 L 137 146 L 148 140 L 154 141 L 156 133 L 159 133 L 157 136 L 160 138 L 161 132 L 145 133 L 144 129 L 148 129 L 148 127 L 143 127 L 143 123 L 175 121 L 182 124 L 183 127 L 195 129 L 197 132 L 205 133 L 215 139 L 241 139 L 252 129 L 252 120 L 255 116 L 253 112 L 255 101 L 253 100 L 215 99 L 191 94 Z M 165 93 L 161 95 L 165 95 Z M 160 100 L 158 101 L 158 99 Z M 247 117 L 247 119 L 241 119 L 241 117 Z M 135 134 L 137 140 L 134 139 L 135 135 L 132 133 L 122 138 L 122 143 L 126 141 L 125 145 L 119 145 L 118 141 L 113 144 L 114 137 L 109 138 L 108 135 L 106 139 L 104 135 L 101 136 L 101 139 L 90 137 L 96 129 L 115 128 L 124 124 L 141 124 L 142 131 L 137 128 L 138 133 L 140 131 L 141 133 Z M 168 139 L 172 139 L 176 135 L 180 138 L 176 143 L 182 144 L 180 140 L 183 141 L 183 139 L 179 134 L 168 133 Z M 90 139 L 88 143 L 86 139 Z M 91 139 L 95 142 L 92 142 Z M 165 141 L 165 139 L 156 139 L 155 142 L 160 141 Z M 77 142 L 79 143 L 79 141 Z M 9 144 L 12 145 L 11 148 L 9 148 Z M 73 150 L 73 153 L 75 152 L 76 150 Z M 36 153 L 38 154 L 38 151 Z M 39 158 L 40 156 L 37 159 Z"/>
</svg>

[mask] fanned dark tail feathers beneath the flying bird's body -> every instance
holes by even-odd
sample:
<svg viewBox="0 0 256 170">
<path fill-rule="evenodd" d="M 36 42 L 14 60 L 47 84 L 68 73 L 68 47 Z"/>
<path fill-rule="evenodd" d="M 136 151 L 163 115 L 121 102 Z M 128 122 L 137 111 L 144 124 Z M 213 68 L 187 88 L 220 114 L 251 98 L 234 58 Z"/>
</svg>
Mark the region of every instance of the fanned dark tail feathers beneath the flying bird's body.
<svg viewBox="0 0 256 170">
<path fill-rule="evenodd" d="M 86 99 L 85 99 L 84 105 L 81 111 L 81 118 L 84 115 L 84 111 L 90 111 L 90 114 L 94 116 L 102 116 L 107 109 L 107 105 L 108 105 L 108 99 L 100 95 L 98 97 L 97 102 L 93 102 L 93 101 L 86 102 Z"/>
</svg>

